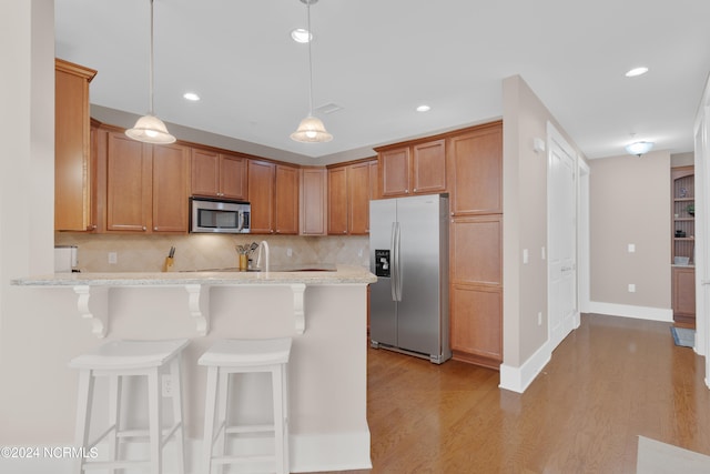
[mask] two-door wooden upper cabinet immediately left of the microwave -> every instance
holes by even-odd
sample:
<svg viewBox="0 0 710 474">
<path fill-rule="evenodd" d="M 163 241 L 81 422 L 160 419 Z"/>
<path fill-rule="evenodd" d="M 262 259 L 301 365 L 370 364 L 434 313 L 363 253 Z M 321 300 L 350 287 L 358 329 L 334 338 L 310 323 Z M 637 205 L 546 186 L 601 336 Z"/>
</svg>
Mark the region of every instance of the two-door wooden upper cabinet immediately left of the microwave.
<svg viewBox="0 0 710 474">
<path fill-rule="evenodd" d="M 190 149 L 105 137 L 105 230 L 187 232 Z"/>
</svg>

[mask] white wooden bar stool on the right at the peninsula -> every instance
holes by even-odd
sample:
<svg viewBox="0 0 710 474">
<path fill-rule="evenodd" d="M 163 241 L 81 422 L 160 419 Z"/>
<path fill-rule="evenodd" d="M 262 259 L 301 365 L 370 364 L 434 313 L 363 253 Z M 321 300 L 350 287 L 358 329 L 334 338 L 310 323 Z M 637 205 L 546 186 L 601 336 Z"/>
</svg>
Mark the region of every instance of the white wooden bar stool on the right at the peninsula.
<svg viewBox="0 0 710 474">
<path fill-rule="evenodd" d="M 287 363 L 291 339 L 223 340 L 217 341 L 199 360 L 207 366 L 207 387 L 204 415 L 204 474 L 212 466 L 273 462 L 275 472 L 288 473 L 288 384 Z M 274 422 L 267 425 L 231 425 L 227 423 L 230 375 L 268 372 L 272 382 Z M 217 420 L 215 422 L 215 411 Z M 215 433 L 216 423 L 216 433 Z M 225 451 L 227 435 L 274 433 L 273 456 L 229 455 Z M 217 445 L 216 450 L 214 445 Z M 217 451 L 217 453 L 213 453 Z M 221 472 L 221 471 L 220 471 Z"/>
</svg>

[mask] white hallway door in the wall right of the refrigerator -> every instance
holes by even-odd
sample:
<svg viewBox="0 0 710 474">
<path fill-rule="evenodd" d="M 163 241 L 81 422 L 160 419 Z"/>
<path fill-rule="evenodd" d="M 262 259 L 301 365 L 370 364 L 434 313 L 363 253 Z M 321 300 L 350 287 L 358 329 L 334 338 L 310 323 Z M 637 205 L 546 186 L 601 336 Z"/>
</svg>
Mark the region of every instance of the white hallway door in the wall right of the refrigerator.
<svg viewBox="0 0 710 474">
<path fill-rule="evenodd" d="M 576 327 L 577 160 L 560 133 L 547 125 L 548 334 L 550 350 Z"/>
</svg>

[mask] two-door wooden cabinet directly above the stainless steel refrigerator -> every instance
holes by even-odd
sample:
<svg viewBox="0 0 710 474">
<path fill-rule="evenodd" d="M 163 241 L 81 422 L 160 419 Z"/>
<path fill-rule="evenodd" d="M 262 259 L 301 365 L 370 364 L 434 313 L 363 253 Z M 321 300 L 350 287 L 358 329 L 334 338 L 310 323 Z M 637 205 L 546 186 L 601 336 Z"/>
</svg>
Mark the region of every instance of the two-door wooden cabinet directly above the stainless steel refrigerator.
<svg viewBox="0 0 710 474">
<path fill-rule="evenodd" d="M 446 140 L 376 149 L 383 198 L 446 192 Z"/>
</svg>

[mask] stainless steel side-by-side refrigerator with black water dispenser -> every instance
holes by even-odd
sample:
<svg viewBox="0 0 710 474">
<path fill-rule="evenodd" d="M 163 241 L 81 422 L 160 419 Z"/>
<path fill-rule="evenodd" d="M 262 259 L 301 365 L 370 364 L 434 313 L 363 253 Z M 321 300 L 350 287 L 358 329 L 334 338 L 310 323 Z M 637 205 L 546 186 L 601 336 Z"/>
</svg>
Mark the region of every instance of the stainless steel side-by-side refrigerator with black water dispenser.
<svg viewBox="0 0 710 474">
<path fill-rule="evenodd" d="M 371 345 L 450 359 L 448 195 L 371 201 L 369 268 Z"/>
</svg>

